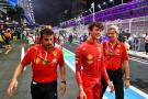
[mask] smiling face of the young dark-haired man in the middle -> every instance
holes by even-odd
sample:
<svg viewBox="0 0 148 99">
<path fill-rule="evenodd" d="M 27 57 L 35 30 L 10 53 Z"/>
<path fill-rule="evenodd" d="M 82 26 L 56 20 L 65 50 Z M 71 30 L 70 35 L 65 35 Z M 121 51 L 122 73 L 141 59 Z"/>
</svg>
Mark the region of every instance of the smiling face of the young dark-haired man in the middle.
<svg viewBox="0 0 148 99">
<path fill-rule="evenodd" d="M 99 40 L 101 37 L 101 32 L 102 29 L 94 26 L 92 31 L 90 31 L 90 35 L 92 36 L 93 40 Z"/>
</svg>

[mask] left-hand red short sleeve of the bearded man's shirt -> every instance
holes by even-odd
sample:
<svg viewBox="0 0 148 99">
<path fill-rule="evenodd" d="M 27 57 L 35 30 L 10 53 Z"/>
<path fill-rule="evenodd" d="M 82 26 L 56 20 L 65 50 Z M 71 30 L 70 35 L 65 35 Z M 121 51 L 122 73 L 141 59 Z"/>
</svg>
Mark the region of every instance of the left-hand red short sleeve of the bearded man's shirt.
<svg viewBox="0 0 148 99">
<path fill-rule="evenodd" d="M 31 48 L 29 48 L 23 57 L 23 59 L 21 61 L 22 66 L 25 67 L 26 65 L 31 64 Z"/>
</svg>

